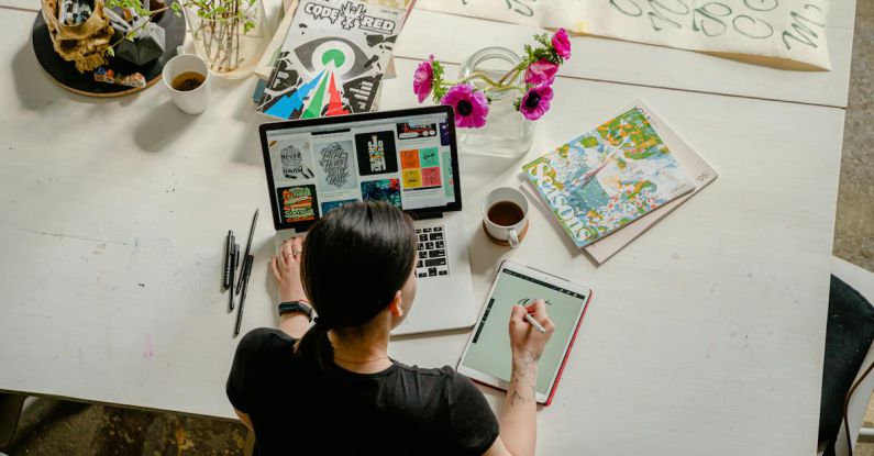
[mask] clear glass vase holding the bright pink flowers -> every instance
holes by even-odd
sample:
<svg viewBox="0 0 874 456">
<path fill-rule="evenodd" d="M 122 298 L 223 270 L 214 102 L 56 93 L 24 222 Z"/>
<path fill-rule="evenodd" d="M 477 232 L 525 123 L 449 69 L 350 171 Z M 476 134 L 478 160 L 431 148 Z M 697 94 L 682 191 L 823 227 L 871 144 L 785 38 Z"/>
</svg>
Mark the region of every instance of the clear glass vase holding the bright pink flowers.
<svg viewBox="0 0 874 456">
<path fill-rule="evenodd" d="M 467 57 L 460 78 L 479 71 L 497 81 L 520 62 L 522 58 L 510 49 L 486 47 Z M 523 77 L 524 73 L 520 73 L 509 82 L 519 84 Z M 484 89 L 490 100 L 488 116 L 482 129 L 457 130 L 461 151 L 511 157 L 525 155 L 534 140 L 534 122 L 522 116 L 513 105 L 521 93 L 518 90 L 494 90 L 479 79 L 474 79 L 473 84 Z"/>
</svg>

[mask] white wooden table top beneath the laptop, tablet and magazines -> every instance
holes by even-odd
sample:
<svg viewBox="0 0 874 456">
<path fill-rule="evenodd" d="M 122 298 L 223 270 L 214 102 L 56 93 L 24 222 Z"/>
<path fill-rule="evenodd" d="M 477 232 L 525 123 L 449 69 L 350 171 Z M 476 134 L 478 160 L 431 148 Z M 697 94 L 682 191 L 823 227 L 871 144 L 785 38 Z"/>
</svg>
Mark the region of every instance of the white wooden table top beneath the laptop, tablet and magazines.
<svg viewBox="0 0 874 456">
<path fill-rule="evenodd" d="M 661 49 L 682 65 L 661 79 L 629 80 L 643 76 L 573 60 L 580 65 L 558 78 L 558 99 L 525 159 L 640 98 L 720 173 L 599 268 L 539 210 L 519 249 L 488 243 L 479 201 L 515 185 L 524 160 L 462 155 L 474 304 L 502 258 L 595 290 L 555 402 L 539 412 L 540 454 L 815 452 L 852 42 L 847 4 L 834 8 L 844 13 L 833 29 L 848 33 L 829 36 L 832 73 Z M 33 18 L 0 8 L 0 390 L 232 418 L 224 380 L 237 340 L 219 290 L 223 240 L 229 229 L 247 232 L 255 207 L 269 213 L 254 81 L 214 79 L 213 103 L 199 116 L 177 111 L 159 86 L 86 99 L 38 69 Z M 413 32 L 467 21 L 416 12 L 411 24 L 420 26 L 407 29 L 399 55 L 435 46 L 413 46 Z M 575 57 L 641 46 L 575 45 Z M 397 63 L 385 109 L 414 104 L 417 62 Z M 673 79 L 683 65 L 700 77 Z M 754 84 L 710 78 L 749 73 Z M 272 237 L 263 216 L 243 331 L 276 324 Z M 398 338 L 391 355 L 455 365 L 467 335 Z M 485 391 L 497 408 L 502 393 Z"/>
</svg>

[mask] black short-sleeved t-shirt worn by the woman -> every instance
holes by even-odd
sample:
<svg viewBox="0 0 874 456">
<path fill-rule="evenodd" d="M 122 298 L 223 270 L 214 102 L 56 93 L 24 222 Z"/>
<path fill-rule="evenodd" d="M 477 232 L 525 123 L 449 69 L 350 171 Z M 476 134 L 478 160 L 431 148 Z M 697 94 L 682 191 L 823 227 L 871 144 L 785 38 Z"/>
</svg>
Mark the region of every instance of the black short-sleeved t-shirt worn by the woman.
<svg viewBox="0 0 874 456">
<path fill-rule="evenodd" d="M 258 329 L 236 347 L 228 398 L 252 419 L 261 456 L 482 455 L 498 437 L 483 393 L 449 366 L 320 370 L 295 342 Z"/>
</svg>

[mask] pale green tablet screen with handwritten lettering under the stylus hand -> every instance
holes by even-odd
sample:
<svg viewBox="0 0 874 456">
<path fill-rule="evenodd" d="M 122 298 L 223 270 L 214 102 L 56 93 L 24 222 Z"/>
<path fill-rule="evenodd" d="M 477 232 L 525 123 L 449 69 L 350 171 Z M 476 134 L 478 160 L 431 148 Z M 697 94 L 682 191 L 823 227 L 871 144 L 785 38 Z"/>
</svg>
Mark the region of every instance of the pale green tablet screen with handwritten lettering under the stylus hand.
<svg viewBox="0 0 874 456">
<path fill-rule="evenodd" d="M 536 392 L 549 394 L 550 385 L 562 366 L 565 347 L 569 344 L 577 320 L 586 305 L 587 294 L 563 289 L 510 269 L 502 269 L 461 364 L 509 381 L 512 368 L 510 312 L 513 305 L 535 299 L 546 301 L 546 311 L 555 324 L 555 333 L 538 363 Z"/>
</svg>

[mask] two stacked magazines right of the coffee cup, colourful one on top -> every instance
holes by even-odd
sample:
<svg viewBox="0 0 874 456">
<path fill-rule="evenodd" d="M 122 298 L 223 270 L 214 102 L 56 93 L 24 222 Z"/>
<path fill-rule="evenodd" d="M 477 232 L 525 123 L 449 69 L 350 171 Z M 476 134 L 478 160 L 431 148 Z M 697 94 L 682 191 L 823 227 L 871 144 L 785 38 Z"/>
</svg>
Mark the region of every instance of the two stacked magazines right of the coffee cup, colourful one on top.
<svg viewBox="0 0 874 456">
<path fill-rule="evenodd" d="M 641 102 L 522 171 L 535 200 L 597 264 L 718 176 Z"/>
</svg>

